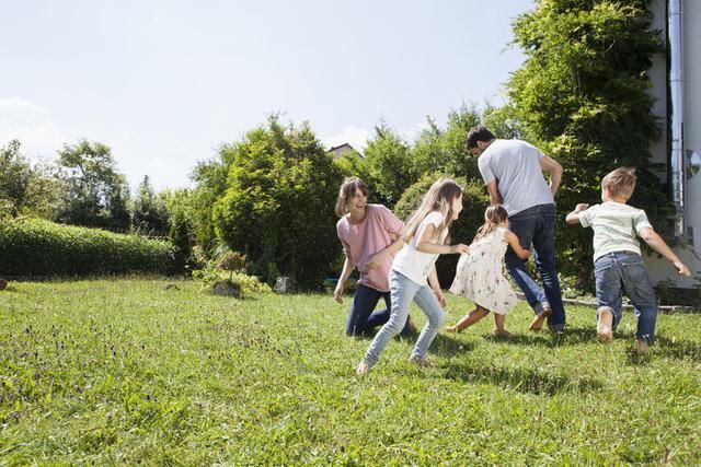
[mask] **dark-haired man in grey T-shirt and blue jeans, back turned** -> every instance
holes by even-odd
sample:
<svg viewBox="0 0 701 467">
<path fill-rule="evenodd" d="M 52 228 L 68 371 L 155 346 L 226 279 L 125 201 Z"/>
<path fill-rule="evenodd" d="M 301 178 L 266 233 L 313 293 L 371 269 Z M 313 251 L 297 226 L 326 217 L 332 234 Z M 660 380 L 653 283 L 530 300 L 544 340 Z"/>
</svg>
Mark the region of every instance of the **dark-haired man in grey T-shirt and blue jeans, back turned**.
<svg viewBox="0 0 701 467">
<path fill-rule="evenodd" d="M 528 329 L 539 330 L 547 318 L 550 330 L 564 331 L 565 311 L 555 270 L 553 198 L 562 178 L 562 166 L 525 141 L 495 139 L 481 125 L 468 132 L 467 147 L 479 156 L 478 165 L 492 205 L 504 206 L 508 226 L 521 246 L 525 249 L 533 246 L 542 289 L 526 271 L 526 260 L 519 259 L 512 248 L 505 256 L 506 269 L 536 313 Z M 550 184 L 543 172 L 550 174 Z"/>
</svg>

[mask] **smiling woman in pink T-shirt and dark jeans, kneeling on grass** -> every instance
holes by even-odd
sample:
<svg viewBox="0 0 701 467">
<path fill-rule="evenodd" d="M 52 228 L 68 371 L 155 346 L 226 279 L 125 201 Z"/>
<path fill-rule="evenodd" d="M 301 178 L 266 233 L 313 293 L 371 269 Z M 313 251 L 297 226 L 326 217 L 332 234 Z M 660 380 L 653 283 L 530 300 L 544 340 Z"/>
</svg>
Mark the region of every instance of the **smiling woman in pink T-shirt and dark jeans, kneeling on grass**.
<svg viewBox="0 0 701 467">
<path fill-rule="evenodd" d="M 346 259 L 333 292 L 336 302 L 343 303 L 343 287 L 355 268 L 360 272 L 358 287 L 346 319 L 346 335 L 363 335 L 390 318 L 390 287 L 387 277 L 392 258 L 399 248 L 392 243 L 404 230 L 404 223 L 382 205 L 368 203 L 368 187 L 358 177 L 348 177 L 341 185 L 336 199 L 336 234 L 343 245 Z M 370 261 L 372 255 L 382 254 L 380 260 Z M 384 299 L 386 308 L 374 312 L 377 302 Z M 411 334 L 406 318 L 402 335 Z"/>
</svg>

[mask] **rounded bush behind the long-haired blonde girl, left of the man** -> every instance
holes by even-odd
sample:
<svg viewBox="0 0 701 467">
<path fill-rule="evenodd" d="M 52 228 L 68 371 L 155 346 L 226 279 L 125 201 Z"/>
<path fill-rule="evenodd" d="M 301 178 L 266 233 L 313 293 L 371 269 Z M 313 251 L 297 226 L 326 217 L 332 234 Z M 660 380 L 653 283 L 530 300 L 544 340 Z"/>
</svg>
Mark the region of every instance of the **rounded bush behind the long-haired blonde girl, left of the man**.
<svg viewBox="0 0 701 467">
<path fill-rule="evenodd" d="M 394 207 L 394 213 L 404 221 L 418 208 L 428 188 L 441 175 L 427 175 L 406 188 L 399 202 Z M 449 176 L 449 175 L 448 175 Z M 466 178 L 455 178 L 464 189 L 462 194 L 462 212 L 450 227 L 450 242 L 464 243 L 469 245 L 474 237 L 480 225 L 484 223 L 484 210 L 490 203 L 490 198 L 485 194 L 484 187 L 478 182 L 468 182 Z M 459 255 L 440 255 L 436 261 L 438 281 L 443 288 L 448 288 L 452 283 L 456 275 Z"/>
</svg>

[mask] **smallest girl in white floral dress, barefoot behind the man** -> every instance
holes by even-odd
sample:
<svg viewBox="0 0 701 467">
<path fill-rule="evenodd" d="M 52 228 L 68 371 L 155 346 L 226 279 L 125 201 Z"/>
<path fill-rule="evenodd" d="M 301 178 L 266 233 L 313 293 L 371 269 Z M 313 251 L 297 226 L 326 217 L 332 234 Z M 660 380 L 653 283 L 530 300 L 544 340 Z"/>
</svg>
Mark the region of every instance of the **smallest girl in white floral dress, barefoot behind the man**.
<svg viewBox="0 0 701 467">
<path fill-rule="evenodd" d="M 526 259 L 528 250 L 521 248 L 518 237 L 507 225 L 506 209 L 503 206 L 492 205 L 486 208 L 484 224 L 470 245 L 470 254 L 460 257 L 456 278 L 450 287 L 456 295 L 470 299 L 474 303 L 474 310 L 455 326 L 448 326 L 448 332 L 459 332 L 492 311 L 492 334 L 512 335 L 504 329 L 504 316 L 518 303 L 518 299 L 504 277 L 504 253 L 510 246 L 520 259 Z"/>
</svg>

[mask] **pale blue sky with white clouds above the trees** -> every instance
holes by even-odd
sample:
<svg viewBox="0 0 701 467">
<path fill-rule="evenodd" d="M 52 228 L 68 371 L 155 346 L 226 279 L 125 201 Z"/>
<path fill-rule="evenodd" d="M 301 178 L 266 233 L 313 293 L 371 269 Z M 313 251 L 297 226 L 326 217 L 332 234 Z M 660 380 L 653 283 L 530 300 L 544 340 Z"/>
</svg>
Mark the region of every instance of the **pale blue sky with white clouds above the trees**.
<svg viewBox="0 0 701 467">
<path fill-rule="evenodd" d="M 135 190 L 192 186 L 198 161 L 274 113 L 360 151 L 380 121 L 501 105 L 533 0 L 0 0 L 0 145 L 53 160 L 112 148 Z"/>
</svg>

